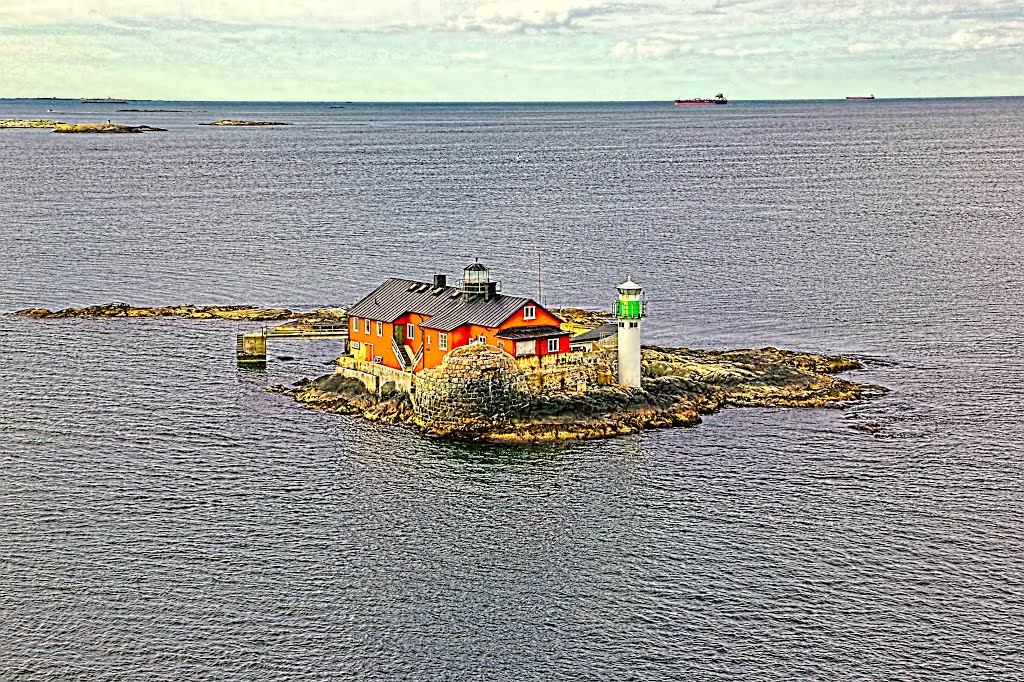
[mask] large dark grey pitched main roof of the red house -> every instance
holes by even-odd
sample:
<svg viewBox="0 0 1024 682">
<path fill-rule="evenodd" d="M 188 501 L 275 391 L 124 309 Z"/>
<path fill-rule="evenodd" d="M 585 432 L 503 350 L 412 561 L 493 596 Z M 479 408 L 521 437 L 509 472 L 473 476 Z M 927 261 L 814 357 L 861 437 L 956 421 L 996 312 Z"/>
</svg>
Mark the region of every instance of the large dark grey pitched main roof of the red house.
<svg viewBox="0 0 1024 682">
<path fill-rule="evenodd" d="M 498 327 L 530 300 L 495 294 L 488 301 L 479 295 L 463 301 L 456 287 L 434 287 L 428 282 L 392 278 L 356 303 L 348 314 L 393 323 L 407 312 L 416 312 L 430 316 L 423 327 L 451 332 L 463 325 Z"/>
</svg>

